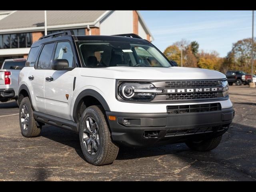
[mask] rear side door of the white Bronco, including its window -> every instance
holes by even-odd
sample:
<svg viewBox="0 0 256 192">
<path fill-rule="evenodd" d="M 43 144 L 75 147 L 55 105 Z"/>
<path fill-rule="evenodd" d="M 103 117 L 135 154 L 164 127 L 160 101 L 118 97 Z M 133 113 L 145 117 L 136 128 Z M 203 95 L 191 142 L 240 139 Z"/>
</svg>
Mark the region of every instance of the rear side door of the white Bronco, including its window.
<svg viewBox="0 0 256 192">
<path fill-rule="evenodd" d="M 51 68 L 54 46 L 55 43 L 44 44 L 39 57 L 37 58 L 34 70 L 31 70 L 28 75 L 29 82 L 32 86 L 32 94 L 34 97 L 33 106 L 36 111 L 42 113 L 46 113 L 44 95 L 45 73 Z M 32 63 L 29 65 L 31 66 Z"/>
</svg>

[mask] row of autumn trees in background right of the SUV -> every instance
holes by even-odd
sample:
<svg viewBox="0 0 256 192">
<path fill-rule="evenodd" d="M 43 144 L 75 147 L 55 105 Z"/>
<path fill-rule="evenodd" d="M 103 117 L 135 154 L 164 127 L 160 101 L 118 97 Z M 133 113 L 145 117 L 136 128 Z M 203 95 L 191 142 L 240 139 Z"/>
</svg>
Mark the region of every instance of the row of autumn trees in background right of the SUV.
<svg viewBox="0 0 256 192">
<path fill-rule="evenodd" d="M 180 66 L 181 64 L 181 50 L 182 63 L 184 67 L 198 67 L 212 70 L 218 70 L 226 73 L 227 70 L 242 70 L 244 72 L 251 72 L 251 51 L 252 38 L 239 40 L 233 44 L 232 50 L 228 52 L 225 58 L 220 58 L 218 52 L 199 52 L 199 44 L 196 41 L 189 43 L 186 40 L 175 42 L 166 50 L 164 54 L 169 60 L 174 60 Z M 254 70 L 256 70 L 256 43 L 254 40 Z M 256 71 L 255 71 L 256 72 Z"/>
</svg>

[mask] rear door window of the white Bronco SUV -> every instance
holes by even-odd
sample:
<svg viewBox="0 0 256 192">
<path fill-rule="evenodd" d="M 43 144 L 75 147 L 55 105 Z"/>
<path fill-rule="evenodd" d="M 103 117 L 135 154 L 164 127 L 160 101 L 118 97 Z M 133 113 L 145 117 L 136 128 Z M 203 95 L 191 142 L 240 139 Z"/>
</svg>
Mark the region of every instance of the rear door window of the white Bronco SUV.
<svg viewBox="0 0 256 192">
<path fill-rule="evenodd" d="M 51 59 L 52 52 L 54 50 L 54 44 L 55 43 L 44 45 L 43 50 L 38 59 L 38 69 L 51 69 Z"/>
</svg>

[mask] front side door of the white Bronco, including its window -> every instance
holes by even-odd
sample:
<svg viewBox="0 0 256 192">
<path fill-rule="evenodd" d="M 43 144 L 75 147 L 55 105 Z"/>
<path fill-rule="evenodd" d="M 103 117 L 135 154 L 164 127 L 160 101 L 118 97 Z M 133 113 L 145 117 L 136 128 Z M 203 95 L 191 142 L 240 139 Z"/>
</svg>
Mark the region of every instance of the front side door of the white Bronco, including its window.
<svg viewBox="0 0 256 192">
<path fill-rule="evenodd" d="M 75 67 L 74 51 L 70 42 L 58 42 L 56 44 L 54 58 L 68 60 L 69 67 Z M 45 78 L 44 95 L 47 114 L 71 120 L 71 102 L 73 96 L 73 82 L 76 76 L 75 70 L 47 70 Z"/>
</svg>

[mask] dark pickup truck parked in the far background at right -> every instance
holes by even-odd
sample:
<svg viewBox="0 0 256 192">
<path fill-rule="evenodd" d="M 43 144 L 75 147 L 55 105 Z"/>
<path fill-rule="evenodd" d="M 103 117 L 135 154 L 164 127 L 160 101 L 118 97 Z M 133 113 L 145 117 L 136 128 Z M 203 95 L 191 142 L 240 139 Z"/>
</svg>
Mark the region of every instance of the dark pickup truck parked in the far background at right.
<svg viewBox="0 0 256 192">
<path fill-rule="evenodd" d="M 252 81 L 252 76 L 243 71 L 228 71 L 226 77 L 229 85 L 233 85 L 233 83 L 236 85 L 248 85 Z"/>
</svg>

